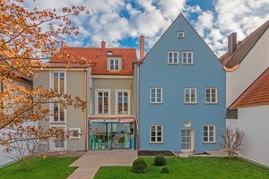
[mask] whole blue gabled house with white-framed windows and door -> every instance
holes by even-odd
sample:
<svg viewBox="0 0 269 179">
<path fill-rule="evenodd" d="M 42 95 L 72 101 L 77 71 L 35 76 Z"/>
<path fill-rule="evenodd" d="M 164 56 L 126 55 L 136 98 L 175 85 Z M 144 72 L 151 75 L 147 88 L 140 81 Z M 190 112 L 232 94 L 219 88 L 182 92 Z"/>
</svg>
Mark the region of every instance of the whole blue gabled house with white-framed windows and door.
<svg viewBox="0 0 269 179">
<path fill-rule="evenodd" d="M 225 71 L 183 14 L 144 58 L 142 44 L 141 55 L 134 64 L 139 149 L 219 149 L 225 129 Z"/>
</svg>

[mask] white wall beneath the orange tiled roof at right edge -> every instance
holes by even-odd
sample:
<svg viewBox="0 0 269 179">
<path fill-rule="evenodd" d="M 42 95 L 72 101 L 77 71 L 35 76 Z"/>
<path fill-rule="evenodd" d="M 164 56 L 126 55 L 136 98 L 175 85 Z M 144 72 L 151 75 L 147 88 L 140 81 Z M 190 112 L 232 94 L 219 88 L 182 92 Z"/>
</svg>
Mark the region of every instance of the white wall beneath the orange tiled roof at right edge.
<svg viewBox="0 0 269 179">
<path fill-rule="evenodd" d="M 240 156 L 269 166 L 269 105 L 239 108 L 239 129 L 245 132 Z"/>
</svg>

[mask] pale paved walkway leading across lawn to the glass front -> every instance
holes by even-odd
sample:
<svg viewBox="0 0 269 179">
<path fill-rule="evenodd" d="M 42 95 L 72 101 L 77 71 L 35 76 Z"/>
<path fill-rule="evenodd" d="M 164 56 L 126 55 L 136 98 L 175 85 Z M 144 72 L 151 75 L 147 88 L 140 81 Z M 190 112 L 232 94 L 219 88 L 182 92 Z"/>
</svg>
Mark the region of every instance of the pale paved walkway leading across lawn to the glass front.
<svg viewBox="0 0 269 179">
<path fill-rule="evenodd" d="M 88 151 L 70 166 L 79 166 L 68 179 L 90 179 L 100 166 L 132 166 L 136 150 Z"/>
</svg>

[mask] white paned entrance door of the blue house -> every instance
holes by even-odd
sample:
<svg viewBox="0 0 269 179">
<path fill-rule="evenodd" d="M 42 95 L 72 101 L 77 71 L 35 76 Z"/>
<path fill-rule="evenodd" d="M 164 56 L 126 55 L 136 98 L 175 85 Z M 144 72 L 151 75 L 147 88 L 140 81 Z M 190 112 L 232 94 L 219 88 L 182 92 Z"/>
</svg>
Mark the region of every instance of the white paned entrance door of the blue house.
<svg viewBox="0 0 269 179">
<path fill-rule="evenodd" d="M 181 130 L 181 152 L 193 152 L 193 130 Z"/>
</svg>

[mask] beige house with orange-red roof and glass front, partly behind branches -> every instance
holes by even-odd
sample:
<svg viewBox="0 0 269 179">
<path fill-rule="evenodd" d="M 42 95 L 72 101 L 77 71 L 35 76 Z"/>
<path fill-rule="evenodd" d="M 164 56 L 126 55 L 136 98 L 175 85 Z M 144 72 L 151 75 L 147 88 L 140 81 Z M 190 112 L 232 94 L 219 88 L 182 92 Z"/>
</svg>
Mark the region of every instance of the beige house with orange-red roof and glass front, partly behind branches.
<svg viewBox="0 0 269 179">
<path fill-rule="evenodd" d="M 64 47 L 86 58 L 91 64 L 71 64 L 50 59 L 46 72 L 39 72 L 34 86 L 54 89 L 87 100 L 86 114 L 82 109 L 61 107 L 55 100 L 49 107 L 57 114 L 49 122 L 40 122 L 45 129 L 62 127 L 65 131 L 76 131 L 82 136 L 71 136 L 70 140 L 50 141 L 50 150 L 88 149 L 131 149 L 134 148 L 134 109 L 132 105 L 133 62 L 136 62 L 134 48 Z M 86 97 L 86 98 L 85 98 Z M 133 144 L 132 144 L 133 143 Z"/>
</svg>

